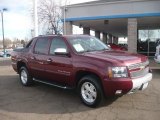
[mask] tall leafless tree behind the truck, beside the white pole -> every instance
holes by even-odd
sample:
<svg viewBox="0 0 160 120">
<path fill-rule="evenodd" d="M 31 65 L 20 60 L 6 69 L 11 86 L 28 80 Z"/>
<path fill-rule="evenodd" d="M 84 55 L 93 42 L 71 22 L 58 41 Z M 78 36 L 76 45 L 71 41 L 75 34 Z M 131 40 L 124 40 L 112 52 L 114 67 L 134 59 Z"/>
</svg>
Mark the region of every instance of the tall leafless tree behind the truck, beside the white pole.
<svg viewBox="0 0 160 120">
<path fill-rule="evenodd" d="M 53 0 L 40 0 L 38 21 L 46 29 L 47 34 L 60 34 L 62 32 L 60 5 Z"/>
</svg>

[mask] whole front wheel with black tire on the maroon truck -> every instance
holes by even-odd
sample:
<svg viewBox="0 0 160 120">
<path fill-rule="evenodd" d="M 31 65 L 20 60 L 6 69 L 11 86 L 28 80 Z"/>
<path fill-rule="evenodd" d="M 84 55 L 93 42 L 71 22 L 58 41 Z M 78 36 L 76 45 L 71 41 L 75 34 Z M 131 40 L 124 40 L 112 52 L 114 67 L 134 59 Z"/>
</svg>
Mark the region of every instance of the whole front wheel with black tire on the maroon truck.
<svg viewBox="0 0 160 120">
<path fill-rule="evenodd" d="M 97 107 L 103 99 L 103 91 L 98 78 L 93 75 L 84 76 L 78 83 L 81 101 L 89 107 Z"/>
</svg>

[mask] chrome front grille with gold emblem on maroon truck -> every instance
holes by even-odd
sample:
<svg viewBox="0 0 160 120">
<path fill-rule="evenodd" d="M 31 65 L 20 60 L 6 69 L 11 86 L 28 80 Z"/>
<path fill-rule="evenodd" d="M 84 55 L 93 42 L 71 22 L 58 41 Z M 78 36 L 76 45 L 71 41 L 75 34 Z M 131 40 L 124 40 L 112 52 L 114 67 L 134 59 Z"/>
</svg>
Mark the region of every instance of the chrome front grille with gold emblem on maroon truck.
<svg viewBox="0 0 160 120">
<path fill-rule="evenodd" d="M 128 66 L 131 78 L 143 77 L 149 73 L 149 61 Z M 137 70 L 136 70 L 137 69 Z"/>
</svg>

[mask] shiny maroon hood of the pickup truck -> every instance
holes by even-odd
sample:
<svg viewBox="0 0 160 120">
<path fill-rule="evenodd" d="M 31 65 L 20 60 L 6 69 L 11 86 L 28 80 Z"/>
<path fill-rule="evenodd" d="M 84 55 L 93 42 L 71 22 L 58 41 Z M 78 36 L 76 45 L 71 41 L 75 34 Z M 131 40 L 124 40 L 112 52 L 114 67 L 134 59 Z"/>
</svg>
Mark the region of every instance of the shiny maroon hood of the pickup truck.
<svg viewBox="0 0 160 120">
<path fill-rule="evenodd" d="M 83 54 L 85 57 L 98 59 L 118 65 L 131 65 L 140 62 L 145 62 L 148 58 L 140 54 L 131 54 L 124 51 L 95 51 L 86 52 Z"/>
</svg>

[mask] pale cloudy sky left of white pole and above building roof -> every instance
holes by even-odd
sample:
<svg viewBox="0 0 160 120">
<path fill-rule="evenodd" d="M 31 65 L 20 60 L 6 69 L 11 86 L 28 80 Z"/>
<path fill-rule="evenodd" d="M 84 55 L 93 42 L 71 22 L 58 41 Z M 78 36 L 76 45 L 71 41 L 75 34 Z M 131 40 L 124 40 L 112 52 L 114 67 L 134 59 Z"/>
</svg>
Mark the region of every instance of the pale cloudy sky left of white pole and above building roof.
<svg viewBox="0 0 160 120">
<path fill-rule="evenodd" d="M 58 1 L 58 0 L 56 0 Z M 64 0 L 65 1 L 65 0 Z M 94 0 L 68 0 L 67 3 L 81 3 Z M 7 8 L 4 12 L 5 38 L 31 37 L 32 19 L 31 9 L 33 0 L 0 0 L 0 10 Z M 0 17 L 0 40 L 2 40 L 2 26 Z"/>
</svg>

